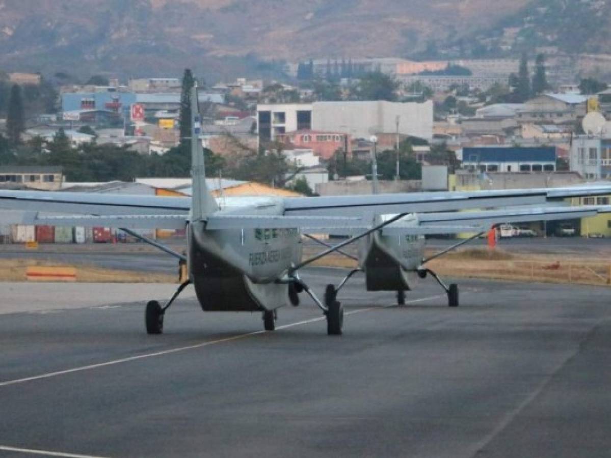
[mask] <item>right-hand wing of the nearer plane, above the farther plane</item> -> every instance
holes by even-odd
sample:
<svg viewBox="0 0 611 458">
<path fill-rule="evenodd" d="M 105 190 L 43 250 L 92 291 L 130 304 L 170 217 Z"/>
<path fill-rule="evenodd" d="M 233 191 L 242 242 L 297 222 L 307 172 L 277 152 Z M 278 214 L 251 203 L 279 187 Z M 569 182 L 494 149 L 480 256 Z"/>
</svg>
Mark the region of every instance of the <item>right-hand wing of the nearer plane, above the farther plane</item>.
<svg viewBox="0 0 611 458">
<path fill-rule="evenodd" d="M 470 192 L 425 192 L 285 198 L 285 215 L 362 216 L 544 205 L 548 199 L 611 194 L 611 185 Z"/>
</svg>

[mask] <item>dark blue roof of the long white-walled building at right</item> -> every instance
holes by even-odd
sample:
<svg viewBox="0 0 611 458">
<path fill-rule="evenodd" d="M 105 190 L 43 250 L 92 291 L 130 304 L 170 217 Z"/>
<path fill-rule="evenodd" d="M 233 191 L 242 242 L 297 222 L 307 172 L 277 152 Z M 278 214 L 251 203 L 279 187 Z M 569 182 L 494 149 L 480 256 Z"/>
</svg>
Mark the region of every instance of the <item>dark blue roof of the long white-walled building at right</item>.
<svg viewBox="0 0 611 458">
<path fill-rule="evenodd" d="M 553 146 L 536 148 L 519 146 L 489 146 L 463 148 L 464 162 L 555 162 Z"/>
</svg>

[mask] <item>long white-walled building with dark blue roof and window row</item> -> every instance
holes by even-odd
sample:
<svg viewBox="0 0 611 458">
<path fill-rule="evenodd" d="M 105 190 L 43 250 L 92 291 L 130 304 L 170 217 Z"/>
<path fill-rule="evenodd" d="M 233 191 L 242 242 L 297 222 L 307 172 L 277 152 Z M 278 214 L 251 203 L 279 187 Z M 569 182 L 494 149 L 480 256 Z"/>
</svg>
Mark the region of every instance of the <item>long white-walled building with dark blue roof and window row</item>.
<svg viewBox="0 0 611 458">
<path fill-rule="evenodd" d="M 556 149 L 550 146 L 483 146 L 463 148 L 463 168 L 483 172 L 553 172 Z"/>
</svg>

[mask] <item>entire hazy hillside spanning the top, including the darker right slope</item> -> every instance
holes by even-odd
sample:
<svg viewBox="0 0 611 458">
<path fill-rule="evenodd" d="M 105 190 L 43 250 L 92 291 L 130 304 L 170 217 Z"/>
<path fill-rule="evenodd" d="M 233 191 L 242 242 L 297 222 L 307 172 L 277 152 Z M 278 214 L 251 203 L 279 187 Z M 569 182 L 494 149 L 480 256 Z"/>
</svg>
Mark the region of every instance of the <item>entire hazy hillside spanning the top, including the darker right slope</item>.
<svg viewBox="0 0 611 458">
<path fill-rule="evenodd" d="M 606 0 L 0 0 L 0 70 L 217 79 L 263 60 L 605 52 Z"/>
</svg>

